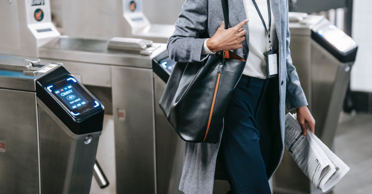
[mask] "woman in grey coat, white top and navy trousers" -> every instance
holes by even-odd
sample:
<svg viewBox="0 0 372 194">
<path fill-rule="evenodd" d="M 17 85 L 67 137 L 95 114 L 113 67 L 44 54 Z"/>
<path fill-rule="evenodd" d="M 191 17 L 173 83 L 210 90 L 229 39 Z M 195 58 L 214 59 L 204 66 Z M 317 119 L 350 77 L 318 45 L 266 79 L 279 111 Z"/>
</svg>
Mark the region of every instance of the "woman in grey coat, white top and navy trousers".
<svg viewBox="0 0 372 194">
<path fill-rule="evenodd" d="M 228 4 L 231 28 L 224 29 L 221 0 L 186 0 L 168 40 L 169 56 L 177 62 L 200 62 L 223 50 L 247 61 L 225 112 L 220 142 L 186 143 L 179 185 L 186 194 L 212 193 L 217 158 L 233 193 L 270 193 L 268 179 L 283 156 L 285 106 L 297 110 L 305 135 L 306 125 L 314 132 L 289 51 L 288 0 Z M 271 47 L 278 51 L 279 68 L 269 78 L 265 54 Z"/>
</svg>

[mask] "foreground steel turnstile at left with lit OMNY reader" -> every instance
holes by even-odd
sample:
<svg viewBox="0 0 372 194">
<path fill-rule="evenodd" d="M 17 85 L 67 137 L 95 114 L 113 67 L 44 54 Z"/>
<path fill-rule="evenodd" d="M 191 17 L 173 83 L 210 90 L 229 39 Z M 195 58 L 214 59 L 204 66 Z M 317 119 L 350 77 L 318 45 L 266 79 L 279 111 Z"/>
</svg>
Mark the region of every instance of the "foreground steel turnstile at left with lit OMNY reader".
<svg viewBox="0 0 372 194">
<path fill-rule="evenodd" d="M 0 55 L 0 193 L 89 193 L 103 106 L 59 63 Z"/>
</svg>

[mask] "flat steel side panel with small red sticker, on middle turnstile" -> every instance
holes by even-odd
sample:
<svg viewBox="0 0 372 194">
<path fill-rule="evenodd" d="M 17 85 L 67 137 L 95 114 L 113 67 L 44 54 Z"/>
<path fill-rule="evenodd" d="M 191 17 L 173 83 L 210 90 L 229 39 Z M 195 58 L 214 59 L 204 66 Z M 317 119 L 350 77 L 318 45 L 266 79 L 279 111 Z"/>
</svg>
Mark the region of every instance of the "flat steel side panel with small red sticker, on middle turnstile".
<svg viewBox="0 0 372 194">
<path fill-rule="evenodd" d="M 117 193 L 156 193 L 153 71 L 112 67 L 111 75 Z"/>
</svg>

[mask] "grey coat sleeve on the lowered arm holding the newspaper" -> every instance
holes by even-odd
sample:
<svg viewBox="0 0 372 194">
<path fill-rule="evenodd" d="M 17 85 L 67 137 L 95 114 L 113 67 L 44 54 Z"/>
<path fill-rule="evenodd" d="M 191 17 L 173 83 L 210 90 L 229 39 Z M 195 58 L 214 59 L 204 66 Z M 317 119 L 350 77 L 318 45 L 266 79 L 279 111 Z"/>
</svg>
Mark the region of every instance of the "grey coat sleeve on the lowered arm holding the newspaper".
<svg viewBox="0 0 372 194">
<path fill-rule="evenodd" d="M 288 18 L 288 0 L 287 0 L 287 33 L 286 33 L 286 66 L 288 81 L 286 85 L 285 105 L 288 110 L 295 109 L 302 106 L 307 106 L 307 100 L 304 90 L 300 85 L 300 80 L 296 72 L 296 68 L 292 64 L 291 51 L 289 50 L 289 42 L 291 41 L 291 33 L 289 32 L 289 18 Z"/>
</svg>

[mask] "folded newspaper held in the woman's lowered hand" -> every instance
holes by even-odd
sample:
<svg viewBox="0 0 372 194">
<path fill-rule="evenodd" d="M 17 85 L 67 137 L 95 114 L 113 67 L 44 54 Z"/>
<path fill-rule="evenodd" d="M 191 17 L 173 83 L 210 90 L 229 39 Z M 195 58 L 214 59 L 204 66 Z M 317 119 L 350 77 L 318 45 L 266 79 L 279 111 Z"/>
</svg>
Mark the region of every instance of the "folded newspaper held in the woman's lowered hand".
<svg viewBox="0 0 372 194">
<path fill-rule="evenodd" d="M 284 143 L 302 172 L 323 192 L 332 188 L 350 170 L 309 129 L 307 136 L 302 135 L 296 114 L 285 116 Z"/>
</svg>

